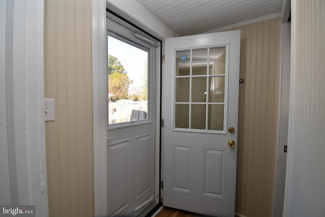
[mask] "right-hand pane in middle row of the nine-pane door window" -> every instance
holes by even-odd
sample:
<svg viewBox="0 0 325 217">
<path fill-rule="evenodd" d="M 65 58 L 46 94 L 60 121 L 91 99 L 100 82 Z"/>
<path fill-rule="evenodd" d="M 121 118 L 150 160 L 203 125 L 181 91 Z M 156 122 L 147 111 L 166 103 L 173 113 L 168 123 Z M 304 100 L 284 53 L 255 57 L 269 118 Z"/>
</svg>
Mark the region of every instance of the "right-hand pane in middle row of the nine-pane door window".
<svg viewBox="0 0 325 217">
<path fill-rule="evenodd" d="M 224 102 L 224 80 L 225 77 L 209 78 L 209 103 Z"/>
</svg>

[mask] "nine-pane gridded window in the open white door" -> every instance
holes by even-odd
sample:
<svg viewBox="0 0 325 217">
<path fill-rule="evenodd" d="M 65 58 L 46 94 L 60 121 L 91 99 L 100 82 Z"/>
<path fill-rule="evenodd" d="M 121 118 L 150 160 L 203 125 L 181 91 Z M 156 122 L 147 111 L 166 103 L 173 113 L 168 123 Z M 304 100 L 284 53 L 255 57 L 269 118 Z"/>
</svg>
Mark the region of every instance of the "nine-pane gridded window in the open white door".
<svg viewBox="0 0 325 217">
<path fill-rule="evenodd" d="M 209 54 L 208 49 L 176 52 L 176 76 L 179 77 L 175 78 L 175 103 L 180 103 L 175 104 L 176 128 L 224 130 L 225 50 L 225 47 L 210 48 Z"/>
</svg>

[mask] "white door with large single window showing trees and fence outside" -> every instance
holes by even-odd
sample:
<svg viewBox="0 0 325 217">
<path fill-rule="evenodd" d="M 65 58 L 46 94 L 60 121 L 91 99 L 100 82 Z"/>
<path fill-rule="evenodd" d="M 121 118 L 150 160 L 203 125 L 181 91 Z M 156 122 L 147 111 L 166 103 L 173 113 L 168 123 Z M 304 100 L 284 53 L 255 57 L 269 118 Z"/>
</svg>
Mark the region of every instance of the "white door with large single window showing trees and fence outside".
<svg viewBox="0 0 325 217">
<path fill-rule="evenodd" d="M 107 214 L 136 216 L 155 199 L 156 46 L 140 30 L 112 19 L 107 18 Z"/>
</svg>

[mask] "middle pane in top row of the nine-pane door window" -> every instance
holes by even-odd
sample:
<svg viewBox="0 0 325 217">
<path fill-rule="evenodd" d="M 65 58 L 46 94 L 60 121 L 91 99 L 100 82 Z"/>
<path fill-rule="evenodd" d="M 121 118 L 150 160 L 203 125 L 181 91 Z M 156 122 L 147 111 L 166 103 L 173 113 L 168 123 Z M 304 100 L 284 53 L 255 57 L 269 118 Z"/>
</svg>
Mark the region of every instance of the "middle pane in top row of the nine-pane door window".
<svg viewBox="0 0 325 217">
<path fill-rule="evenodd" d="M 206 75 L 208 49 L 193 50 L 192 56 L 192 75 Z"/>
</svg>

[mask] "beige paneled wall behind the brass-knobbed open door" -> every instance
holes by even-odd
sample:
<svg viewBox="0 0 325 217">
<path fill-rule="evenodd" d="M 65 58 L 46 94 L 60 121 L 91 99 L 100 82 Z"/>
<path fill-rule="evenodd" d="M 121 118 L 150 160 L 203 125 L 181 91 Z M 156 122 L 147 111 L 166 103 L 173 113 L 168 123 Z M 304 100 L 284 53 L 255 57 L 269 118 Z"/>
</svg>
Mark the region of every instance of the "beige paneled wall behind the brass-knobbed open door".
<svg viewBox="0 0 325 217">
<path fill-rule="evenodd" d="M 240 26 L 236 212 L 271 216 L 277 145 L 280 19 Z"/>
</svg>

